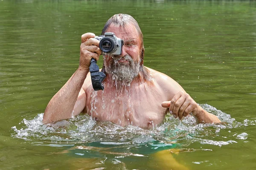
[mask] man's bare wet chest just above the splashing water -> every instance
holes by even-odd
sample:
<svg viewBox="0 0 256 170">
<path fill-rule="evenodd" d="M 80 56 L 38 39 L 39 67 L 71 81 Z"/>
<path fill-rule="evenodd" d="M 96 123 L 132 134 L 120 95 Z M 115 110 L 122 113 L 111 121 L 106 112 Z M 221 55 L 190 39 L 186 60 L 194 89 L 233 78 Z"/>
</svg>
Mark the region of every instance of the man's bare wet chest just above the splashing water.
<svg viewBox="0 0 256 170">
<path fill-rule="evenodd" d="M 86 108 L 96 120 L 148 129 L 163 122 L 166 109 L 161 103 L 164 100 L 156 89 L 93 91 L 87 97 Z"/>
</svg>

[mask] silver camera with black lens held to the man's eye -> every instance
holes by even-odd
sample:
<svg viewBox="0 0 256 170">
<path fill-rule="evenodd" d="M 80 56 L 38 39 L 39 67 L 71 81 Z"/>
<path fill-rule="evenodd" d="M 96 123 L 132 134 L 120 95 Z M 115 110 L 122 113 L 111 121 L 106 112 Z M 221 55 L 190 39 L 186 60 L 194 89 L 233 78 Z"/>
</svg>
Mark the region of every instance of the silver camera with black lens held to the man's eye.
<svg viewBox="0 0 256 170">
<path fill-rule="evenodd" d="M 106 32 L 104 35 L 95 37 L 99 40 L 99 48 L 103 53 L 120 55 L 122 53 L 123 40 L 117 38 L 113 32 Z"/>
</svg>

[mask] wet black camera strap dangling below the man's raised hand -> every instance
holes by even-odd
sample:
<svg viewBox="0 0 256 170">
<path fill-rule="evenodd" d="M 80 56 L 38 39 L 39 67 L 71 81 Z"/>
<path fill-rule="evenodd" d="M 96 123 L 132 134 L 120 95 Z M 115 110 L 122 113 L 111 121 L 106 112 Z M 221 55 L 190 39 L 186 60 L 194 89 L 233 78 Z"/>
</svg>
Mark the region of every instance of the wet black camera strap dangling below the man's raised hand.
<svg viewBox="0 0 256 170">
<path fill-rule="evenodd" d="M 92 58 L 89 70 L 91 74 L 93 89 L 95 91 L 99 91 L 104 90 L 102 82 L 106 78 L 106 75 L 103 72 L 99 72 L 99 66 L 96 63 L 97 61 Z"/>
</svg>

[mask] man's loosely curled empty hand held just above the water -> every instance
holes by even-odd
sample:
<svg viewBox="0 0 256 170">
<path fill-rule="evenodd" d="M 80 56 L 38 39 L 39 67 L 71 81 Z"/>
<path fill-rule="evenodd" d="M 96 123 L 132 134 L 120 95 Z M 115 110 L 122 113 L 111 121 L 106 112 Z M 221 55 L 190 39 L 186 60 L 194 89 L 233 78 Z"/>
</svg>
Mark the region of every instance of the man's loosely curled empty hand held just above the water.
<svg viewBox="0 0 256 170">
<path fill-rule="evenodd" d="M 180 120 L 182 117 L 188 116 L 191 112 L 193 114 L 198 113 L 197 103 L 184 91 L 175 94 L 171 101 L 163 102 L 162 107 L 169 108 L 169 112 L 175 118 L 179 117 Z"/>
</svg>

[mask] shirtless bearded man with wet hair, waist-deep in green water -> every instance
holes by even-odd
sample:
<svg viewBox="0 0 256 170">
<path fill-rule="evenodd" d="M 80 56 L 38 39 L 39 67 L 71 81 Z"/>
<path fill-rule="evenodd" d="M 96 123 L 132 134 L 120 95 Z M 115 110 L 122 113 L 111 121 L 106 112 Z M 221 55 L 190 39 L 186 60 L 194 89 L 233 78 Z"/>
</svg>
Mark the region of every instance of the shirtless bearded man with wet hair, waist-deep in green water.
<svg viewBox="0 0 256 170">
<path fill-rule="evenodd" d="M 99 121 L 120 126 L 149 129 L 163 122 L 169 111 L 182 119 L 192 113 L 199 123 L 221 122 L 204 111 L 186 91 L 167 75 L 143 65 L 143 34 L 137 21 L 127 14 L 116 14 L 105 24 L 102 35 L 113 32 L 123 40 L 120 55 L 104 55 L 104 91 L 93 91 L 90 60 L 102 51 L 95 34 L 81 36 L 79 68 L 52 97 L 44 112 L 44 123 L 69 119 L 81 112 Z"/>
</svg>

